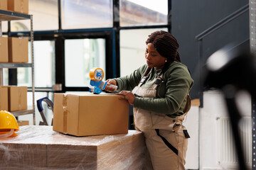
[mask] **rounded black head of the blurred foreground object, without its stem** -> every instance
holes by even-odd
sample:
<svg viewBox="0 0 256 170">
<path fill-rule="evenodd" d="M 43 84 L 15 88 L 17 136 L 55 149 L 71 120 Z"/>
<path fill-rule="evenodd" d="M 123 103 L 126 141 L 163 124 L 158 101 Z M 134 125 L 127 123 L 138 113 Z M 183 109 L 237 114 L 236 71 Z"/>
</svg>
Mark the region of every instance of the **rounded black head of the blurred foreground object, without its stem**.
<svg viewBox="0 0 256 170">
<path fill-rule="evenodd" d="M 230 48 L 232 46 L 227 45 L 210 55 L 203 68 L 203 85 L 218 89 L 233 85 L 255 96 L 255 57 L 239 47 Z"/>
</svg>

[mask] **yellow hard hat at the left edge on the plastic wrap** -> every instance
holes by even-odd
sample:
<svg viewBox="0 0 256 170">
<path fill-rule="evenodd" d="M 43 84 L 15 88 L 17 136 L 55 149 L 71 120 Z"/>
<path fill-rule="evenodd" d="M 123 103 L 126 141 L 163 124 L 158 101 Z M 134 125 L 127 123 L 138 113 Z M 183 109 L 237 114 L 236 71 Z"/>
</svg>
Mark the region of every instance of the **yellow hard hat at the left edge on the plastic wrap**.
<svg viewBox="0 0 256 170">
<path fill-rule="evenodd" d="M 18 123 L 14 115 L 8 111 L 0 111 L 0 137 L 16 135 L 14 132 L 18 130 Z"/>
</svg>

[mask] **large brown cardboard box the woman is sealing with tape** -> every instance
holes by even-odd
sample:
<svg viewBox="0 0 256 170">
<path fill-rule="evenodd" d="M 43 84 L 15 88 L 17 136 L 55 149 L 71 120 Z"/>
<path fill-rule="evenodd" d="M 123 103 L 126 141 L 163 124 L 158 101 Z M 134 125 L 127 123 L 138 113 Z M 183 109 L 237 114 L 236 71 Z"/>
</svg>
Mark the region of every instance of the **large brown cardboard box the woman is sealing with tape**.
<svg viewBox="0 0 256 170">
<path fill-rule="evenodd" d="M 53 130 L 75 136 L 128 132 L 129 104 L 114 94 L 54 94 Z"/>
</svg>

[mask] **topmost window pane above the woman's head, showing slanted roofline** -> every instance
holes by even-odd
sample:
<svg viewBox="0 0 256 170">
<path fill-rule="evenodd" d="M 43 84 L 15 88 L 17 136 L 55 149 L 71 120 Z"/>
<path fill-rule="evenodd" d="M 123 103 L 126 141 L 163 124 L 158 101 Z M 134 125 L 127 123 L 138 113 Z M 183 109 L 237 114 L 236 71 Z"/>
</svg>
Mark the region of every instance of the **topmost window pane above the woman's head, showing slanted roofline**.
<svg viewBox="0 0 256 170">
<path fill-rule="evenodd" d="M 119 0 L 120 26 L 167 24 L 167 0 Z"/>
</svg>

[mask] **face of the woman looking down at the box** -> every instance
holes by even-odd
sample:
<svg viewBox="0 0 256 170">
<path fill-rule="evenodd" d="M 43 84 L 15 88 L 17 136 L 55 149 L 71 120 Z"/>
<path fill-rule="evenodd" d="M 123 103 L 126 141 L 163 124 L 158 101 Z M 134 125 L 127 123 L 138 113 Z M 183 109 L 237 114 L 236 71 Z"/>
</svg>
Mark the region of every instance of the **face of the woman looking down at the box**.
<svg viewBox="0 0 256 170">
<path fill-rule="evenodd" d="M 149 67 L 156 67 L 156 69 L 162 69 L 166 61 L 166 58 L 161 56 L 151 43 L 146 45 L 145 58 L 146 64 Z"/>
</svg>

